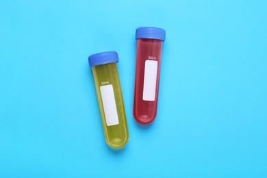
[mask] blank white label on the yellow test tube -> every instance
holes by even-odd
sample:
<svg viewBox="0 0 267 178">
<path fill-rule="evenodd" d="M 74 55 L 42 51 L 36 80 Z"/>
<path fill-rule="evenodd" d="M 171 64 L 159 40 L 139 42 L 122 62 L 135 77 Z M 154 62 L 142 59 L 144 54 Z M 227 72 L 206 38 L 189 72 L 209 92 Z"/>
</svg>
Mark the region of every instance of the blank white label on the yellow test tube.
<svg viewBox="0 0 267 178">
<path fill-rule="evenodd" d="M 112 85 L 100 87 L 107 126 L 118 125 L 118 113 Z"/>
</svg>

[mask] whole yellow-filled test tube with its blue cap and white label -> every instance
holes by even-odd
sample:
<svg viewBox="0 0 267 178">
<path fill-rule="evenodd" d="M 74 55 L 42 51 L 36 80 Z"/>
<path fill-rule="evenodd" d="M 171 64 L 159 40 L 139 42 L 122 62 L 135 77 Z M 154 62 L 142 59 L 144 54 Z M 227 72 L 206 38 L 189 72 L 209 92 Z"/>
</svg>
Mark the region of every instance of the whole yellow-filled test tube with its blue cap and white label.
<svg viewBox="0 0 267 178">
<path fill-rule="evenodd" d="M 110 147 L 121 149 L 127 144 L 129 133 L 116 66 L 118 53 L 97 53 L 90 55 L 88 61 L 94 75 L 105 141 Z"/>
</svg>

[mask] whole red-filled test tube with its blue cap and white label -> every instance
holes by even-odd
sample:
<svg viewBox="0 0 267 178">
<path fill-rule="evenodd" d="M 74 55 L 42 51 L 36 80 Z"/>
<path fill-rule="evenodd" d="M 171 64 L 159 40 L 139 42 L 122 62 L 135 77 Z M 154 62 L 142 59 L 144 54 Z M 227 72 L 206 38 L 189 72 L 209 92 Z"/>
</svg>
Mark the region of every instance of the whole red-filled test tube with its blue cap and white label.
<svg viewBox="0 0 267 178">
<path fill-rule="evenodd" d="M 157 115 L 160 64 L 165 30 L 155 27 L 136 29 L 136 82 L 133 117 L 141 125 L 149 125 Z"/>
</svg>

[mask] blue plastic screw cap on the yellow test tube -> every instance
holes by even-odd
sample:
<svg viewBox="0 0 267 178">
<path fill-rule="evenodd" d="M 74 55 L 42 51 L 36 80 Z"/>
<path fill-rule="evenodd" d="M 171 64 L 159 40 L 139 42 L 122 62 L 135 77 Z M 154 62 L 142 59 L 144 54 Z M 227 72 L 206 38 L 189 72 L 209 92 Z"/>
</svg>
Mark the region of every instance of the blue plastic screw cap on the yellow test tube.
<svg viewBox="0 0 267 178">
<path fill-rule="evenodd" d="M 115 51 L 109 51 L 104 53 L 97 53 L 90 55 L 88 58 L 90 66 L 99 66 L 102 64 L 110 64 L 118 62 L 118 53 Z"/>
</svg>

